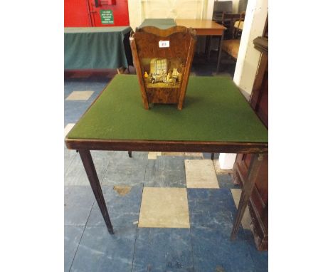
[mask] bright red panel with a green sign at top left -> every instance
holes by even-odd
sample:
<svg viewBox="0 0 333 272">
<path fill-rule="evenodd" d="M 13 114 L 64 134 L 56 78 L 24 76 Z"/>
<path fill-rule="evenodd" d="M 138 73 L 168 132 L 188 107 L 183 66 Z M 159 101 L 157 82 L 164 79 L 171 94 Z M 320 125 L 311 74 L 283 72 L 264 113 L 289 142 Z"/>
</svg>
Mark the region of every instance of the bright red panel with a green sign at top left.
<svg viewBox="0 0 333 272">
<path fill-rule="evenodd" d="M 127 0 L 65 0 L 65 27 L 129 26 Z"/>
</svg>

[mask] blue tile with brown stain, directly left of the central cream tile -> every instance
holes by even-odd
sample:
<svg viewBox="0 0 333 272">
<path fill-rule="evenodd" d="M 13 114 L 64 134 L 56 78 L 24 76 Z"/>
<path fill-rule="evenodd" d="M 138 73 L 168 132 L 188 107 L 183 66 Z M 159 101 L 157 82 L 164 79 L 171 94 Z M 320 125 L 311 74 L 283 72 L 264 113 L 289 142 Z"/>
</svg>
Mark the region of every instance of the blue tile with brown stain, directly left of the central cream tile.
<svg viewBox="0 0 333 272">
<path fill-rule="evenodd" d="M 102 191 L 115 231 L 123 226 L 137 224 L 142 198 L 141 186 L 115 188 L 113 186 L 102 186 Z M 95 202 L 90 213 L 87 226 L 105 226 L 97 202 Z"/>
</svg>

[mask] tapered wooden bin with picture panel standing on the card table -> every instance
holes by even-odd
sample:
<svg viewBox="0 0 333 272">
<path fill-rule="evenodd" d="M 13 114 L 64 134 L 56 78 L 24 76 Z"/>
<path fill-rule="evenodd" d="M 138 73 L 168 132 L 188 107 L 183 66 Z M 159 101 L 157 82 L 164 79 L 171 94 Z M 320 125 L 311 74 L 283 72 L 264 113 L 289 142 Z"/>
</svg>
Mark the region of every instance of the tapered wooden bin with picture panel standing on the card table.
<svg viewBox="0 0 333 272">
<path fill-rule="evenodd" d="M 185 26 L 137 28 L 129 38 L 144 108 L 177 104 L 181 110 L 196 47 L 196 32 Z"/>
</svg>

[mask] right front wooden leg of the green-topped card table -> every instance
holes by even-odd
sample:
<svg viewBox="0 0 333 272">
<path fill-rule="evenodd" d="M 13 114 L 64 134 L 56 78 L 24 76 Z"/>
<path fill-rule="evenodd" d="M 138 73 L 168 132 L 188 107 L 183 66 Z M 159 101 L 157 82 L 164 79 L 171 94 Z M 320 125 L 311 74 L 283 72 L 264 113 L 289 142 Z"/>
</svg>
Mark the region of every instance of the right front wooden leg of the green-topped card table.
<svg viewBox="0 0 333 272">
<path fill-rule="evenodd" d="M 233 223 L 233 231 L 231 231 L 231 240 L 236 239 L 236 234 L 238 232 L 240 222 L 243 219 L 243 215 L 248 206 L 248 200 L 253 192 L 253 187 L 255 185 L 255 179 L 257 179 L 260 168 L 260 161 L 263 160 L 263 154 L 255 154 L 251 157 L 250 167 L 248 169 L 248 177 L 243 182 L 242 194 L 240 195 L 240 200 L 237 209 L 236 219 Z"/>
</svg>

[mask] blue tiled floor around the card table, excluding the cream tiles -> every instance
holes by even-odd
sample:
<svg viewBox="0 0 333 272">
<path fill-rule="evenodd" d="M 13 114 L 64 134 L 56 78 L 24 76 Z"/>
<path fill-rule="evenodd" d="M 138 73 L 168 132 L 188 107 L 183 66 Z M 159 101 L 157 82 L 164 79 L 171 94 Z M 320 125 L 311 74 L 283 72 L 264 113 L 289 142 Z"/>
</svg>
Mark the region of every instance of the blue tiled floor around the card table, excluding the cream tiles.
<svg viewBox="0 0 333 272">
<path fill-rule="evenodd" d="M 203 60 L 192 72 L 213 75 L 215 69 Z M 233 73 L 234 64 L 226 70 Z M 112 75 L 65 78 L 64 98 L 73 91 L 94 92 L 88 100 L 65 100 L 65 126 L 78 121 L 110 80 Z M 236 241 L 230 240 L 236 216 L 231 189 L 239 188 L 230 174 L 216 175 L 220 189 L 186 189 L 189 229 L 138 227 L 144 187 L 186 188 L 184 159 L 210 159 L 210 154 L 92 155 L 115 235 L 107 232 L 78 153 L 65 147 L 65 271 L 268 271 L 268 252 L 255 249 L 249 230 L 240 228 Z"/>
</svg>

